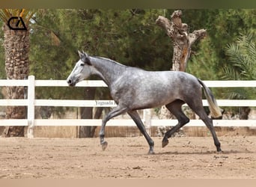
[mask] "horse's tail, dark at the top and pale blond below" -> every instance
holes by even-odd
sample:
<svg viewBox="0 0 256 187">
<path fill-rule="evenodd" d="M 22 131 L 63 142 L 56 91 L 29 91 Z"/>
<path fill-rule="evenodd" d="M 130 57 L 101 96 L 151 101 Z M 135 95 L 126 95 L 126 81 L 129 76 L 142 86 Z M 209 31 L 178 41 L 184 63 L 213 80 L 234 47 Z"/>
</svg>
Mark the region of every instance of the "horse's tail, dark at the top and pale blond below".
<svg viewBox="0 0 256 187">
<path fill-rule="evenodd" d="M 200 79 L 198 79 L 198 82 L 204 88 L 204 95 L 207 98 L 211 116 L 213 118 L 221 118 L 222 112 L 224 110 L 222 108 L 219 108 L 219 105 L 217 104 L 216 99 L 213 96 L 213 93 L 210 91 L 210 89 L 206 85 L 204 85 L 204 82 L 202 82 Z"/>
</svg>

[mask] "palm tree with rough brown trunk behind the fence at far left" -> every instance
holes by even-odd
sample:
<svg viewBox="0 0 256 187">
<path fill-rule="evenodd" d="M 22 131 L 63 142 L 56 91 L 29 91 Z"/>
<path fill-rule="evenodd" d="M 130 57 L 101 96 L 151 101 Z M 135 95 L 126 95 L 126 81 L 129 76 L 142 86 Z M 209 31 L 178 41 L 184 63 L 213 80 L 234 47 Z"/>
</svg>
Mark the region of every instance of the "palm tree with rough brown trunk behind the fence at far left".
<svg viewBox="0 0 256 187">
<path fill-rule="evenodd" d="M 34 11 L 25 9 L 1 9 L 0 19 L 4 31 L 4 53 L 5 72 L 7 79 L 27 79 L 28 77 L 28 52 L 29 52 L 29 29 L 28 23 Z M 27 30 L 12 30 L 8 26 L 8 20 L 12 16 L 22 17 Z M 15 22 L 10 22 L 12 27 L 17 26 Z M 18 25 L 19 26 L 19 25 Z M 7 87 L 7 99 L 24 99 L 23 87 Z M 7 107 L 7 119 L 24 119 L 25 106 Z M 24 126 L 7 126 L 4 129 L 5 137 L 24 136 Z"/>
</svg>

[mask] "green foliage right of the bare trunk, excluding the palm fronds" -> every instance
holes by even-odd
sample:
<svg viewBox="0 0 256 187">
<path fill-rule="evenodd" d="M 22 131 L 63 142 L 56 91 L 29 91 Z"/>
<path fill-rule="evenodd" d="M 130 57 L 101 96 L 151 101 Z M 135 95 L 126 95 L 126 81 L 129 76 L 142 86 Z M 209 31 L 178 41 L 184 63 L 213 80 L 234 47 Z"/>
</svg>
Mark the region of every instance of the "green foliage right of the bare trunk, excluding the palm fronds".
<svg viewBox="0 0 256 187">
<path fill-rule="evenodd" d="M 193 67 L 189 64 L 189 71 L 193 73 L 204 72 L 205 68 L 202 67 L 208 64 L 207 74 L 210 76 L 207 79 L 222 79 L 223 67 L 228 64 L 228 55 L 225 53 L 228 43 L 237 40 L 240 33 L 255 34 L 256 31 L 256 19 L 254 19 L 256 10 L 254 9 L 184 10 L 183 16 L 190 31 L 207 29 L 207 38 L 204 39 L 207 40 L 206 43 L 201 40 L 192 46 L 192 50 L 197 54 L 196 57 L 192 57 L 192 64 L 196 62 L 198 65 Z M 201 77 L 201 79 L 204 78 Z"/>
</svg>

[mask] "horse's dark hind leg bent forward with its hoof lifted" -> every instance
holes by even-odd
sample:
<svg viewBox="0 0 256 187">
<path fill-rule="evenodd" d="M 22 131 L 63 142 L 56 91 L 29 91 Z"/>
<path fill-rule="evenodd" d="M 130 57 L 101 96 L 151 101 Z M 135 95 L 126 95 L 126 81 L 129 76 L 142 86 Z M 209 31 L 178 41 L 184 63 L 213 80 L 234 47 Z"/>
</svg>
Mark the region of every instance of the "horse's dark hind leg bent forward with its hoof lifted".
<svg viewBox="0 0 256 187">
<path fill-rule="evenodd" d="M 177 130 L 184 126 L 186 123 L 189 123 L 189 117 L 186 117 L 181 109 L 183 104 L 184 102 L 182 100 L 175 100 L 174 102 L 165 105 L 166 108 L 171 111 L 171 114 L 174 114 L 174 116 L 177 118 L 178 123 L 176 126 L 168 130 L 168 132 L 165 132 L 165 137 L 162 139 L 162 147 L 165 147 L 169 143 L 168 138 L 170 138 L 174 132 L 177 132 Z"/>
</svg>

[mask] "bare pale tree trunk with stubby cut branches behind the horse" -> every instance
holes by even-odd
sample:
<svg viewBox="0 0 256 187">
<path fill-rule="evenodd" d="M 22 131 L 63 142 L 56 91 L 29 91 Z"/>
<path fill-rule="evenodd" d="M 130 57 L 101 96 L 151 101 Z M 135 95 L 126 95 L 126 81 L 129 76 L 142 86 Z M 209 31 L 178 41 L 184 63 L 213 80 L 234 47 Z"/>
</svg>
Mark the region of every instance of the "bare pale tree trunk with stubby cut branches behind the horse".
<svg viewBox="0 0 256 187">
<path fill-rule="evenodd" d="M 200 40 L 206 35 L 204 29 L 189 33 L 188 25 L 182 23 L 181 16 L 181 10 L 175 10 L 171 15 L 171 21 L 164 16 L 159 16 L 156 19 L 156 24 L 165 29 L 168 37 L 171 37 L 174 43 L 171 69 L 173 71 L 186 71 L 192 44 L 195 43 L 195 40 Z M 162 106 L 159 117 L 160 119 L 174 118 L 165 106 Z"/>
</svg>

